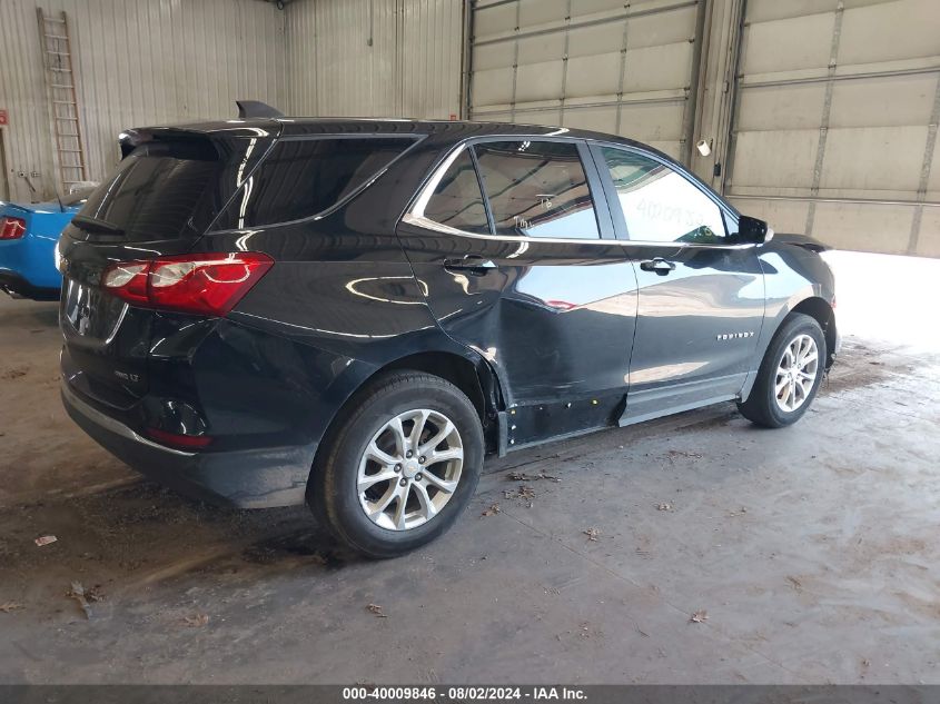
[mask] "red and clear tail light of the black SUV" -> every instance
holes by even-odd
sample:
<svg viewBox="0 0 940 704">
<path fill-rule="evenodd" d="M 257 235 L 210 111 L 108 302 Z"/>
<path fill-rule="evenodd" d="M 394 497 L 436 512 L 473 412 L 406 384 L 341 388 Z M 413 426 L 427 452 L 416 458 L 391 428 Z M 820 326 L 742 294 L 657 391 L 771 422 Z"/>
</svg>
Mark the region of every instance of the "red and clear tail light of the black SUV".
<svg viewBox="0 0 940 704">
<path fill-rule="evenodd" d="M 273 265 L 257 251 L 119 261 L 105 269 L 101 286 L 135 306 L 221 317 Z"/>
</svg>

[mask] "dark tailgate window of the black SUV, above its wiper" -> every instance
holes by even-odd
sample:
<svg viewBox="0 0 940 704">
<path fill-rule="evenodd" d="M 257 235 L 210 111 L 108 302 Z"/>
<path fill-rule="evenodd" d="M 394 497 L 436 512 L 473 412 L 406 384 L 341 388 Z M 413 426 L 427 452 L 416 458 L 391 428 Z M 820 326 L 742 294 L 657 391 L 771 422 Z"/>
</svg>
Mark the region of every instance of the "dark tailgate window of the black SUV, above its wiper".
<svg viewBox="0 0 940 704">
<path fill-rule="evenodd" d="M 141 145 L 89 196 L 81 216 L 129 241 L 175 239 L 219 169 L 219 155 L 206 140 Z M 76 225 L 83 227 L 81 217 Z"/>
</svg>

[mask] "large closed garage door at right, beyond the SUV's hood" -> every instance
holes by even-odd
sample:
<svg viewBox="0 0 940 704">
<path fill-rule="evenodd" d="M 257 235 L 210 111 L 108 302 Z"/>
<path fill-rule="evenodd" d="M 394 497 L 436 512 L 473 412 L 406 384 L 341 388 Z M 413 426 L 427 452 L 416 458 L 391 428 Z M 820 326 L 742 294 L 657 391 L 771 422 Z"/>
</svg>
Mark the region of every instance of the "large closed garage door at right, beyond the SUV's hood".
<svg viewBox="0 0 940 704">
<path fill-rule="evenodd" d="M 940 2 L 748 0 L 724 191 L 779 231 L 940 256 Z"/>
</svg>

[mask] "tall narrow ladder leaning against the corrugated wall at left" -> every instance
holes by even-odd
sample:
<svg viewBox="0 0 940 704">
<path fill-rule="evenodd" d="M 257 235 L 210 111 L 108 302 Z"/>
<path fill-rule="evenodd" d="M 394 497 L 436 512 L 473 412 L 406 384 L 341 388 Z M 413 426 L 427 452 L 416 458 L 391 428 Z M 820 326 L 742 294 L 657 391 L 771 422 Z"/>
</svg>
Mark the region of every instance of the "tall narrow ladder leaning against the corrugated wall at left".
<svg viewBox="0 0 940 704">
<path fill-rule="evenodd" d="M 56 136 L 59 181 L 62 191 L 68 194 L 73 186 L 87 180 L 69 21 L 65 11 L 46 14 L 42 8 L 37 8 L 36 13 L 39 19 L 47 95 L 51 106 L 52 133 Z"/>
</svg>

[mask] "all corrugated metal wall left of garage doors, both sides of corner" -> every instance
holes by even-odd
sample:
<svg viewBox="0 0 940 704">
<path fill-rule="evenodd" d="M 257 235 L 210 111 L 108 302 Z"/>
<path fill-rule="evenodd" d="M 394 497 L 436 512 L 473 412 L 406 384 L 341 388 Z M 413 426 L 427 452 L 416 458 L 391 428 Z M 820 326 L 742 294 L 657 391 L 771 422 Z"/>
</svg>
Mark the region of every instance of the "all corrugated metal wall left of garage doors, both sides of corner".
<svg viewBox="0 0 940 704">
<path fill-rule="evenodd" d="M 57 173 L 36 8 L 69 13 L 89 177 L 139 125 L 234 117 L 236 98 L 294 115 L 459 113 L 462 0 L 2 0 L 0 108 L 14 199 Z M 39 196 L 16 172 L 38 172 Z"/>
</svg>

